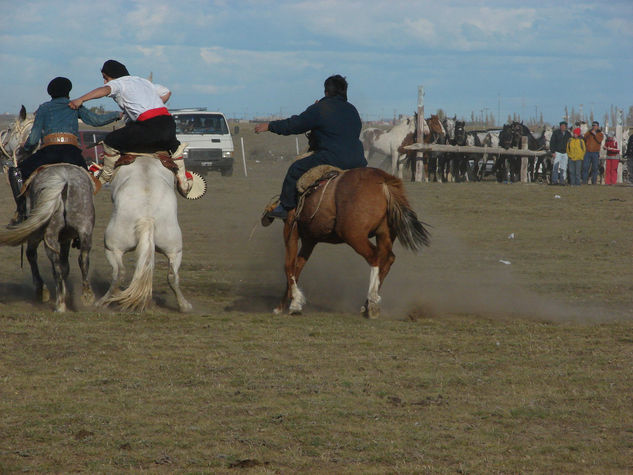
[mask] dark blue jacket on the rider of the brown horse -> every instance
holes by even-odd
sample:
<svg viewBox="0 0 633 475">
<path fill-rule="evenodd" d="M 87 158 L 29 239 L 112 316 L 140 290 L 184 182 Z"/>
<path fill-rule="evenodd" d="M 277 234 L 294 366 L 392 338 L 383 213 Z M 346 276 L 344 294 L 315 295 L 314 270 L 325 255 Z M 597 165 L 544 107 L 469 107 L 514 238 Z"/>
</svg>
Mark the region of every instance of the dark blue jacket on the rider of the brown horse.
<svg viewBox="0 0 633 475">
<path fill-rule="evenodd" d="M 358 111 L 341 96 L 324 97 L 299 115 L 268 124 L 268 130 L 279 135 L 311 131 L 314 155 L 344 170 L 367 166 L 359 140 L 361 127 Z"/>
</svg>

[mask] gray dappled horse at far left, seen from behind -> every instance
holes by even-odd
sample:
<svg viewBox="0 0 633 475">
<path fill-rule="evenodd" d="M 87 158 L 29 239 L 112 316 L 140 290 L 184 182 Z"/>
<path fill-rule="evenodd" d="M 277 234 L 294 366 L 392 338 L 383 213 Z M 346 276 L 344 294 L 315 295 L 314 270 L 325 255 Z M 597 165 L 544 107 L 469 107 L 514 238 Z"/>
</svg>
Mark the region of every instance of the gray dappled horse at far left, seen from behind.
<svg viewBox="0 0 633 475">
<path fill-rule="evenodd" d="M 29 135 L 33 120 L 26 117 L 24 106 L 9 129 L 3 131 L 2 152 L 14 160 L 17 147 Z M 55 277 L 55 310 L 66 311 L 66 280 L 69 273 L 68 255 L 74 239 L 79 242 L 79 267 L 82 275 L 82 302 L 90 305 L 94 294 L 88 280 L 92 230 L 95 222 L 94 183 L 86 170 L 75 165 L 48 166 L 35 175 L 26 191 L 26 221 L 0 230 L 0 245 L 17 246 L 27 243 L 26 257 L 31 266 L 36 295 L 47 302 L 50 294 L 37 265 L 37 248 L 44 241 L 46 254 L 53 265 Z"/>
</svg>

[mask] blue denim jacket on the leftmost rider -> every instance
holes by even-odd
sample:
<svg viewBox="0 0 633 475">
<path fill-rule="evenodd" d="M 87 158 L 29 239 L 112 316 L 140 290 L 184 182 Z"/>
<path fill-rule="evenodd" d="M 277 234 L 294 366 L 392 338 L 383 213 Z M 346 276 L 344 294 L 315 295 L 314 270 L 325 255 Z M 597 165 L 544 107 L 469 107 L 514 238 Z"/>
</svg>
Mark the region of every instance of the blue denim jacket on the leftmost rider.
<svg viewBox="0 0 633 475">
<path fill-rule="evenodd" d="M 120 112 L 96 114 L 84 106 L 73 110 L 68 107 L 69 102 L 70 99 L 67 97 L 58 97 L 38 107 L 35 111 L 33 128 L 24 144 L 25 151 L 30 152 L 35 149 L 40 139 L 48 134 L 65 132 L 79 137 L 78 118 L 81 118 L 88 125 L 99 127 L 114 122 L 121 116 Z"/>
</svg>

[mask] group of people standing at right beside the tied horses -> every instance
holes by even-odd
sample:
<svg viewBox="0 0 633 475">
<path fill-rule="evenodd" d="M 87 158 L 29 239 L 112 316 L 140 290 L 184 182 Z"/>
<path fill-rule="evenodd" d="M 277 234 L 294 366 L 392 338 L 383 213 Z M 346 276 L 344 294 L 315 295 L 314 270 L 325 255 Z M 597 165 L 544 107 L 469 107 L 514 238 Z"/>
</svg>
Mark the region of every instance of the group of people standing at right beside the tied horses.
<svg viewBox="0 0 633 475">
<path fill-rule="evenodd" d="M 604 181 L 607 185 L 613 185 L 618 180 L 618 165 L 620 162 L 620 147 L 615 139 L 615 133 L 605 136 L 600 129 L 598 121 L 593 121 L 591 129 L 584 135 L 580 127 L 576 126 L 572 133 L 567 129 L 567 122 L 561 121 L 559 128 L 554 130 L 550 140 L 550 152 L 553 155 L 552 185 L 566 185 L 567 171 L 569 170 L 569 183 L 580 185 L 589 183 L 595 185 L 598 181 L 600 169 L 600 149 L 606 150 L 606 165 Z M 604 141 L 604 145 L 602 144 Z M 633 183 L 633 135 L 629 137 L 626 155 L 628 158 L 629 180 Z M 624 158 L 624 157 L 623 157 Z"/>
</svg>

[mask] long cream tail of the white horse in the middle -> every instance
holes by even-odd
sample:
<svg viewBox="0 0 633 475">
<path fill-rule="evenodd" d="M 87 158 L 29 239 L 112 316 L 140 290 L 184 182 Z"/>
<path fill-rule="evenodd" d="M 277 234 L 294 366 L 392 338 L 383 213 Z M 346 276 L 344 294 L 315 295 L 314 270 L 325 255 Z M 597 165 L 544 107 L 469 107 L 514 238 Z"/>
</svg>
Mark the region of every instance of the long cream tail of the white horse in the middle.
<svg viewBox="0 0 633 475">
<path fill-rule="evenodd" d="M 136 269 L 127 289 L 108 299 L 107 303 L 118 303 L 123 309 L 139 312 L 145 310 L 152 298 L 154 277 L 154 218 L 140 218 L 134 229 L 136 233 Z"/>
</svg>

